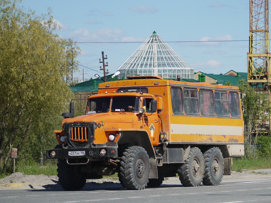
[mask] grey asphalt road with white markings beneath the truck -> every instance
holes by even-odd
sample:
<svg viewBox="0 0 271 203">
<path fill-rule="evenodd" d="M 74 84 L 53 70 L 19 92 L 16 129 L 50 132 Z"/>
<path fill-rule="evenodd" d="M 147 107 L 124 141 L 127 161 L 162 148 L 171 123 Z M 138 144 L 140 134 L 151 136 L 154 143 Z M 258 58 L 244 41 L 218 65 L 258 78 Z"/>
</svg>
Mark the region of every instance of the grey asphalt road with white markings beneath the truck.
<svg viewBox="0 0 271 203">
<path fill-rule="evenodd" d="M 84 187 L 81 191 L 63 191 L 57 188 L 4 189 L 0 191 L 0 202 L 19 203 L 68 203 L 68 202 L 186 202 L 186 203 L 270 203 L 271 179 L 222 182 L 219 186 L 183 187 L 161 185 L 140 191 L 124 189 L 120 184 L 109 186 Z"/>
</svg>

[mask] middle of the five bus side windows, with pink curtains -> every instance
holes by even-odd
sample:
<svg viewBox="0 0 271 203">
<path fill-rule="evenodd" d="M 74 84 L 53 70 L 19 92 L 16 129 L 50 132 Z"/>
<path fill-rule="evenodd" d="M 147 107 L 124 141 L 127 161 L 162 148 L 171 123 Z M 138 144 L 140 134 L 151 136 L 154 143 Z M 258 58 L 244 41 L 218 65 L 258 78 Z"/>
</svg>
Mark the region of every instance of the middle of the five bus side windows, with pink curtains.
<svg viewBox="0 0 271 203">
<path fill-rule="evenodd" d="M 206 116 L 214 116 L 214 93 L 211 90 L 199 90 L 199 103 L 201 114 Z"/>
</svg>

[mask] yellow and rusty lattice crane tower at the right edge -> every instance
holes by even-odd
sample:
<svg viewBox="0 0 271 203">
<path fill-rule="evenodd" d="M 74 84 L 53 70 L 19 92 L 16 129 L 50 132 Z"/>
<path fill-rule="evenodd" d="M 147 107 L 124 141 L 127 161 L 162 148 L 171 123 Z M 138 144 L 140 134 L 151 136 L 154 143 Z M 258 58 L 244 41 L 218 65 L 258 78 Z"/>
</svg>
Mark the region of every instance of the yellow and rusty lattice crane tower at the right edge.
<svg viewBox="0 0 271 203">
<path fill-rule="evenodd" d="M 247 79 L 256 91 L 268 91 L 270 99 L 268 0 L 250 0 L 250 36 Z"/>
</svg>

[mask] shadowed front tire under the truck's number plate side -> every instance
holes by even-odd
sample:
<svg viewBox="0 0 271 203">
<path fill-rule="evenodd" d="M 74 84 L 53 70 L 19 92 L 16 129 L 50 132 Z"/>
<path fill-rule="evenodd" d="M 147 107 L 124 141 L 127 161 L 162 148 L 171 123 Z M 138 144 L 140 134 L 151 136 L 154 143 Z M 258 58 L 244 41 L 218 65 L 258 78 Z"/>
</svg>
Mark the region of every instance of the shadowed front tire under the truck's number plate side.
<svg viewBox="0 0 271 203">
<path fill-rule="evenodd" d="M 80 190 L 85 186 L 86 179 L 76 173 L 76 166 L 68 165 L 66 159 L 58 159 L 57 176 L 62 188 L 67 191 Z"/>
</svg>

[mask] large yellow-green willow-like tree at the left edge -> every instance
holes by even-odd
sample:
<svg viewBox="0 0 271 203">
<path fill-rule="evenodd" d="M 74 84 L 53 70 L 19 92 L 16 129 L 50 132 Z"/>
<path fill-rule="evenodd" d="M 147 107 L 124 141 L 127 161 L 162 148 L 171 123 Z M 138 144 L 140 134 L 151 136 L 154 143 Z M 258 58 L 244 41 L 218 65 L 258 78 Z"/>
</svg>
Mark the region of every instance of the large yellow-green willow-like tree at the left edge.
<svg viewBox="0 0 271 203">
<path fill-rule="evenodd" d="M 36 140 L 40 149 L 52 129 L 46 127 L 73 97 L 66 77 L 67 40 L 52 31 L 50 15 L 24 12 L 18 0 L 0 0 L 0 169 L 7 168 L 12 147 L 18 152 Z M 74 44 L 70 41 L 69 43 Z M 58 120 L 58 119 L 56 119 Z M 60 126 L 60 125 L 59 125 Z M 42 135 L 37 133 L 43 132 Z M 50 133 L 51 134 L 50 134 Z"/>
</svg>

